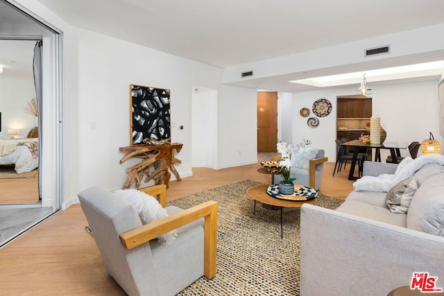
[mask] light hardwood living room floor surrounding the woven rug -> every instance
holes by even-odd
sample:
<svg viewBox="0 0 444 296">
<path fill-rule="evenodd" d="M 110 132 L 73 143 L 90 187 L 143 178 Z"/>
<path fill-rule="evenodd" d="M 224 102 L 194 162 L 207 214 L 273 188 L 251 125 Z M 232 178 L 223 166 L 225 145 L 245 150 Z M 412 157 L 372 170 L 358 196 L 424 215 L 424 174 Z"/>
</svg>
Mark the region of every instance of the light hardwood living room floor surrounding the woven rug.
<svg viewBox="0 0 444 296">
<path fill-rule="evenodd" d="M 259 162 L 264 159 L 259 159 Z M 334 163 L 326 163 L 321 193 L 345 198 L 352 190 L 348 172 L 332 177 Z M 214 171 L 194 168 L 193 176 L 173 181 L 173 200 L 241 180 L 269 183 L 257 173 L 259 164 Z M 125 295 L 107 274 L 87 221 L 78 204 L 59 211 L 0 249 L 0 295 Z"/>
</svg>

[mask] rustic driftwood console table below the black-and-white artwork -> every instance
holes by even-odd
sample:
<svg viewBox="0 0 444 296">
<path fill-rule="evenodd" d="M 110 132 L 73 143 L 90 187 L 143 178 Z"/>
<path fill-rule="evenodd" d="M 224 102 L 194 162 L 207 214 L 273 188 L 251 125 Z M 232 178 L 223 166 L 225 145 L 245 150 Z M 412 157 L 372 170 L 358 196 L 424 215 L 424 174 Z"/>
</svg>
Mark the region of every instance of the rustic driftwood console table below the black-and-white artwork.
<svg viewBox="0 0 444 296">
<path fill-rule="evenodd" d="M 119 151 L 127 152 L 126 155 L 120 159 L 121 164 L 130 158 L 142 159 L 139 164 L 126 169 L 128 176 L 122 188 L 128 189 L 133 183 L 135 183 L 136 188 L 139 188 L 144 175 L 146 175 L 144 182 L 154 179 L 155 184 L 165 184 L 168 187 L 171 177 L 169 169 L 176 175 L 177 180 L 181 181 L 182 179 L 178 171 L 176 171 L 174 164 L 181 164 L 182 162 L 174 157 L 173 150 L 180 153 L 182 146 L 182 143 L 164 143 L 163 145 L 139 144 L 119 148 Z M 152 164 L 155 168 L 154 171 L 151 171 L 150 168 Z"/>
</svg>

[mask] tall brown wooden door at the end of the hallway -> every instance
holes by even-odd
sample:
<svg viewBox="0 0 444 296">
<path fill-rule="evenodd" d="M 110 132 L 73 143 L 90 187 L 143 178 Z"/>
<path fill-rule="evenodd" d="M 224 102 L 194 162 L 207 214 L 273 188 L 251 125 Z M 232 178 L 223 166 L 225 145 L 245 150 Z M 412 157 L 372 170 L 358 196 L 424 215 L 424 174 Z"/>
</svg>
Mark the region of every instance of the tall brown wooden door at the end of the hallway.
<svg viewBox="0 0 444 296">
<path fill-rule="evenodd" d="M 257 152 L 276 152 L 278 92 L 257 92 Z"/>
</svg>

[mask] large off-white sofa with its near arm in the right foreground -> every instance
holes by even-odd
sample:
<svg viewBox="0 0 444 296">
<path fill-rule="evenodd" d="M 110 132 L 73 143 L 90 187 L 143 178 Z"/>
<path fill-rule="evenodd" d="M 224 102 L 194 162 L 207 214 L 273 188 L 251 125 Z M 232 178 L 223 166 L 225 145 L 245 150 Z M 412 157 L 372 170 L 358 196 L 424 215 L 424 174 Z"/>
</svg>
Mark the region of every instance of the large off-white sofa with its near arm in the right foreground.
<svg viewBox="0 0 444 296">
<path fill-rule="evenodd" d="M 396 164 L 364 163 L 364 175 Z M 332 211 L 304 204 L 300 218 L 300 295 L 387 295 L 410 286 L 413 272 L 438 277 L 444 290 L 444 166 L 414 173 L 407 214 L 386 207 L 385 192 L 352 191 Z"/>
</svg>

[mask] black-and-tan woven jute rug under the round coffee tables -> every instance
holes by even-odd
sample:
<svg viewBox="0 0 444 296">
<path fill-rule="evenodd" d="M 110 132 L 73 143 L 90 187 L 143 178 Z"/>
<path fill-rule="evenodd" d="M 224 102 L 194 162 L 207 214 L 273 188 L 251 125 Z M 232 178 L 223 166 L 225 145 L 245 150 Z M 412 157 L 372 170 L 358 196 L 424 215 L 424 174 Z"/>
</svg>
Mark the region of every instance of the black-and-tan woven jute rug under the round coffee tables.
<svg viewBox="0 0 444 296">
<path fill-rule="evenodd" d="M 300 209 L 264 209 L 246 190 L 257 182 L 221 186 L 173 200 L 169 205 L 187 209 L 207 200 L 218 202 L 217 273 L 201 277 L 178 295 L 299 295 Z M 343 202 L 319 194 L 316 205 L 336 209 Z"/>
</svg>

